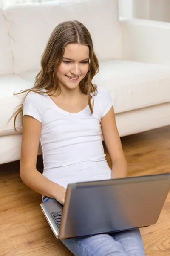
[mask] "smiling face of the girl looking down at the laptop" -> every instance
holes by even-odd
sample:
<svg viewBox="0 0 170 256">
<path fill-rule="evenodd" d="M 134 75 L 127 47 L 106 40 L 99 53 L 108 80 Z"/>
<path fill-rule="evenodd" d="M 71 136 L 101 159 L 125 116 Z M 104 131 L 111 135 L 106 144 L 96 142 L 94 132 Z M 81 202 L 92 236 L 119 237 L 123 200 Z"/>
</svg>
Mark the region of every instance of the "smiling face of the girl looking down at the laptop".
<svg viewBox="0 0 170 256">
<path fill-rule="evenodd" d="M 59 85 L 75 89 L 89 69 L 89 48 L 82 44 L 68 44 L 62 63 L 57 69 Z"/>
</svg>

